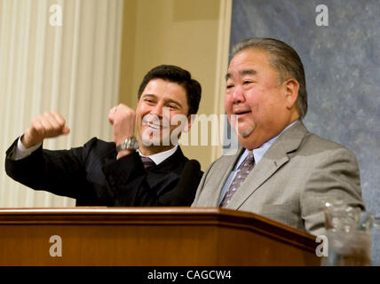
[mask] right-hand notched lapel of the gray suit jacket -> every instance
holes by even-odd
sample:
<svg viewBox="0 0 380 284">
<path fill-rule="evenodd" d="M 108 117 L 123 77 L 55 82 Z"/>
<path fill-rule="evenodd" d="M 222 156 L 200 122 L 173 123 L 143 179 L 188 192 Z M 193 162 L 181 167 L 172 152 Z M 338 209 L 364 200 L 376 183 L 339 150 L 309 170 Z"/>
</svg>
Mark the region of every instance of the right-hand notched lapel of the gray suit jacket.
<svg viewBox="0 0 380 284">
<path fill-rule="evenodd" d="M 272 177 L 282 165 L 289 162 L 288 154 L 296 151 L 297 147 L 305 137 L 307 130 L 302 122 L 297 122 L 289 130 L 286 130 L 273 143 L 265 153 L 260 162 L 249 173 L 249 176 L 242 183 L 241 187 L 234 193 L 230 203 L 226 206 L 229 209 L 239 209 L 249 196 L 254 193 L 260 185 Z"/>
</svg>

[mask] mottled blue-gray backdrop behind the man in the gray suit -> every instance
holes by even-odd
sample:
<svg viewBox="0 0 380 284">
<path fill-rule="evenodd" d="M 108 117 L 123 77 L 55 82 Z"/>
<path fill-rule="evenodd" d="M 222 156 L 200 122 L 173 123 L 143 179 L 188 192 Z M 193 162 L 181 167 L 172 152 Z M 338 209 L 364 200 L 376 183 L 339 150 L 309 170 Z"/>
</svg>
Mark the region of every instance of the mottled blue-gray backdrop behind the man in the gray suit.
<svg viewBox="0 0 380 284">
<path fill-rule="evenodd" d="M 329 26 L 318 26 L 319 4 Z M 234 0 L 230 47 L 252 36 L 293 46 L 306 75 L 306 127 L 352 150 L 363 199 L 380 214 L 380 3 L 378 0 Z M 325 19 L 326 20 L 326 19 Z M 373 232 L 380 265 L 380 227 Z"/>
</svg>

